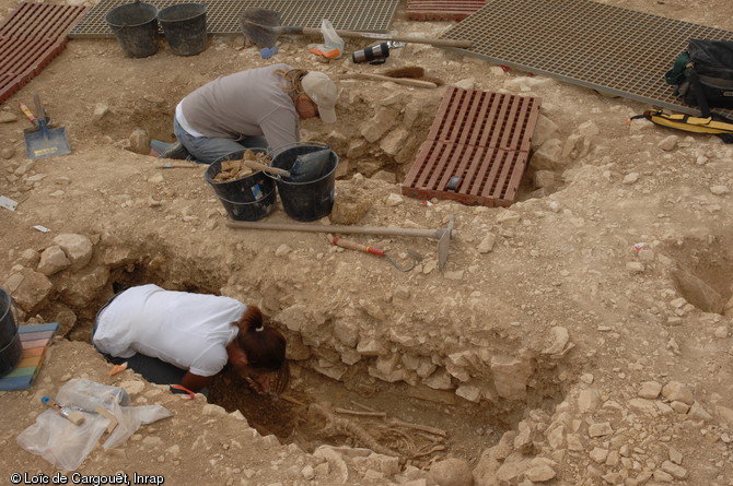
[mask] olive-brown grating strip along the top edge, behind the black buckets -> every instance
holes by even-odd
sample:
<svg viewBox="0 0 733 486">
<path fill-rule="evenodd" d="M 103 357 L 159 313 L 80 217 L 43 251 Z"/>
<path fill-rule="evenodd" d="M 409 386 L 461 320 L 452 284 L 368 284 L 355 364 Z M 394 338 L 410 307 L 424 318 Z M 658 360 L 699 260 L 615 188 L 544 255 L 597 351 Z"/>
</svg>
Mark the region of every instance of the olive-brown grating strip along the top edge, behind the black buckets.
<svg viewBox="0 0 733 486">
<path fill-rule="evenodd" d="M 112 38 L 104 16 L 126 0 L 101 0 L 82 22 L 69 33 L 71 38 Z M 149 0 L 159 10 L 186 0 Z M 203 0 L 207 5 L 207 32 L 211 35 L 242 35 L 240 15 L 249 7 L 275 10 L 282 14 L 282 25 L 321 28 L 321 21 L 328 19 L 334 28 L 384 33 L 389 28 L 399 0 Z"/>
</svg>

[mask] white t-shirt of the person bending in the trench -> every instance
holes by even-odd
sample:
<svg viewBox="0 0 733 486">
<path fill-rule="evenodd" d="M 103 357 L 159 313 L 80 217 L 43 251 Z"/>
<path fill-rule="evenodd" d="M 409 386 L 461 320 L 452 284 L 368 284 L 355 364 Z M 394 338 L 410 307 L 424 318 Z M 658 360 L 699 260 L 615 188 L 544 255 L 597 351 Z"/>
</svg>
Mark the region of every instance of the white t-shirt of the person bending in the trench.
<svg viewBox="0 0 733 486">
<path fill-rule="evenodd" d="M 93 342 L 112 356 L 140 353 L 210 377 L 226 365 L 226 345 L 238 332 L 234 322 L 246 308 L 230 297 L 141 285 L 102 310 Z"/>
</svg>

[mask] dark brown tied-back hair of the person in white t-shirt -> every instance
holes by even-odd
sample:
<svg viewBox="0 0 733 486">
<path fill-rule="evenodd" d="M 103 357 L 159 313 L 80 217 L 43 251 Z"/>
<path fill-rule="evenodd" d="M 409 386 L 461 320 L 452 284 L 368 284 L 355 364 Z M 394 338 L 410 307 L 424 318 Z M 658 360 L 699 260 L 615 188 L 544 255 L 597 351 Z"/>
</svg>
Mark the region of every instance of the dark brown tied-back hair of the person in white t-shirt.
<svg viewBox="0 0 733 486">
<path fill-rule="evenodd" d="M 275 328 L 265 325 L 257 306 L 247 306 L 236 322 L 240 332 L 236 342 L 247 355 L 249 366 L 270 371 L 280 369 L 286 360 L 286 339 Z"/>
</svg>

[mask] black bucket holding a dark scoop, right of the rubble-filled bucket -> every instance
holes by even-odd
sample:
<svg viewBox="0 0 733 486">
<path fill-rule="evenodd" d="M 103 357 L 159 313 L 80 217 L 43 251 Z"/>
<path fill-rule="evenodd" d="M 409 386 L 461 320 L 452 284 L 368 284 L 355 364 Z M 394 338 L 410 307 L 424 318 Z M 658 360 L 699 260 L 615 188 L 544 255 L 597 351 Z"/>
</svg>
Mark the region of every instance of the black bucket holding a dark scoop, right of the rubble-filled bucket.
<svg viewBox="0 0 733 486">
<path fill-rule="evenodd" d="M 299 155 L 328 149 L 317 142 L 302 142 L 286 149 L 272 157 L 272 167 L 290 170 Z M 329 151 L 326 174 L 307 182 L 288 181 L 288 178 L 272 176 L 277 180 L 282 209 L 288 216 L 298 221 L 315 221 L 330 214 L 336 194 L 336 167 L 338 155 Z"/>
</svg>

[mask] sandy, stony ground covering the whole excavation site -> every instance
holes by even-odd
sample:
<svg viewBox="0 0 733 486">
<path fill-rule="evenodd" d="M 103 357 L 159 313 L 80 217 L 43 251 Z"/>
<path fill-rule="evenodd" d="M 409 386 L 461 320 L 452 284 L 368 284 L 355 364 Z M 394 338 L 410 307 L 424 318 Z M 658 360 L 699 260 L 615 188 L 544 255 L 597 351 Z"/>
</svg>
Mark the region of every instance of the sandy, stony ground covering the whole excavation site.
<svg viewBox="0 0 733 486">
<path fill-rule="evenodd" d="M 725 0 L 607 3 L 733 29 Z M 15 7 L 0 0 L 3 14 Z M 394 25 L 439 35 L 451 24 L 409 22 L 400 11 Z M 400 262 L 407 250 L 421 253 L 412 271 L 399 272 L 334 247 L 325 234 L 230 228 L 203 167 L 163 169 L 133 152 L 136 130 L 172 141 L 175 105 L 218 75 L 272 61 L 334 76 L 375 72 L 348 60 L 319 62 L 307 42 L 281 39 L 278 55 L 263 60 L 235 37 L 211 38 L 190 58 L 161 42 L 146 59 L 125 58 L 113 39 L 72 40 L 2 105 L 16 118 L 0 123 L 0 195 L 19 203 L 0 209 L 2 286 L 38 275 L 38 256 L 58 235 L 82 235 L 93 247 L 84 266 L 44 277 L 47 288 L 36 280 L 20 306 L 22 323 L 60 322 L 62 332 L 31 390 L 0 392 L 3 484 L 14 472 L 58 472 L 15 438 L 44 412 L 40 396 L 88 378 L 123 386 L 136 405 L 162 404 L 174 416 L 141 427 L 121 448 L 97 447 L 78 470 L 85 475 L 137 472 L 211 485 L 466 484 L 459 474 L 444 481 L 437 473 L 437 464 L 457 458 L 477 485 L 733 485 L 725 315 L 733 149 L 712 137 L 626 123 L 648 108 L 636 102 L 441 49 L 398 49 L 385 68 L 421 66 L 447 85 L 540 97 L 534 150 L 548 139 L 566 149 L 549 167 L 555 182 L 535 191 L 532 175 L 548 168 L 533 166 L 508 210 L 427 205 L 402 197 L 399 181 L 444 88 L 339 82 L 338 125 L 302 126 L 304 140 L 328 143 L 340 157 L 340 208 L 330 223 L 441 228 L 453 215 L 444 272 L 433 239 L 349 236 Z M 31 105 L 35 92 L 67 128 L 72 154 L 25 158 L 28 122 L 16 106 Z M 369 142 L 375 120 L 391 125 Z M 385 138 L 396 131 L 404 138 L 392 150 Z M 268 221 L 292 220 L 278 202 Z M 259 305 L 289 337 L 287 396 L 258 398 L 222 376 L 208 404 L 129 370 L 109 377 L 89 345 L 94 313 L 113 286 L 148 282 Z M 338 415 L 372 432 L 379 450 L 324 430 L 323 416 L 309 412 L 324 402 L 383 412 L 386 418 Z"/>
</svg>

